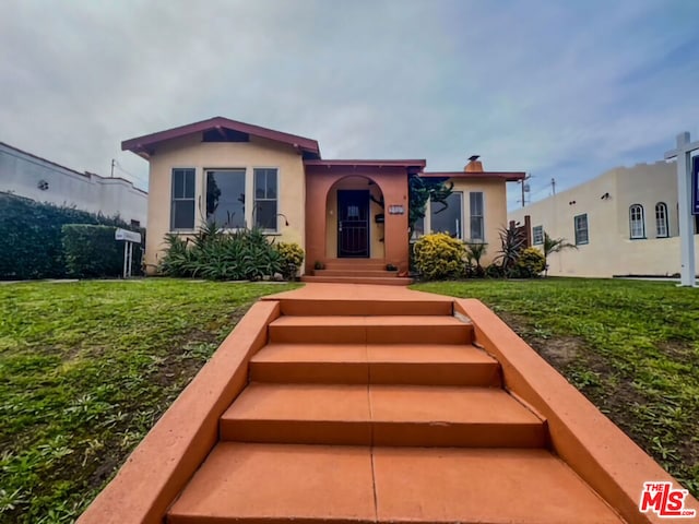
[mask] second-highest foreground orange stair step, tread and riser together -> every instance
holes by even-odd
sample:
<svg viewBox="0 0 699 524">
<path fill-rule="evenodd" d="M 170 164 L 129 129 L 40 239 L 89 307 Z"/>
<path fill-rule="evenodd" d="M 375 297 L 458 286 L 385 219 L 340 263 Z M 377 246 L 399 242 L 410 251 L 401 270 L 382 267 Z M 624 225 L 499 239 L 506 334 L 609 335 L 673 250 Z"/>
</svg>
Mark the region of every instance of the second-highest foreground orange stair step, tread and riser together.
<svg viewBox="0 0 699 524">
<path fill-rule="evenodd" d="M 473 325 L 454 317 L 280 317 L 270 343 L 471 344 Z"/>
</svg>

